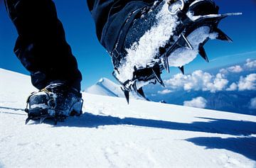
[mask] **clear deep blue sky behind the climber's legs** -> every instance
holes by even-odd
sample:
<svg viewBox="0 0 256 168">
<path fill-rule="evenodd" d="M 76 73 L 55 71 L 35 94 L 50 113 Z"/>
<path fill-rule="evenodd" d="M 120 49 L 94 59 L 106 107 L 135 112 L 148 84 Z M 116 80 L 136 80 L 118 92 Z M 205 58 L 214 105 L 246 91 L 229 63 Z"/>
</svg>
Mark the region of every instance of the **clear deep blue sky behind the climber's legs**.
<svg viewBox="0 0 256 168">
<path fill-rule="evenodd" d="M 211 40 L 206 44 L 210 63 L 198 57 L 186 66 L 186 73 L 196 69 L 209 69 L 256 58 L 256 2 L 245 1 L 215 1 L 220 6 L 220 13 L 242 12 L 242 16 L 225 18 L 220 23 L 220 29 L 233 39 L 233 43 Z M 95 25 L 87 9 L 85 0 L 61 1 L 55 0 L 58 17 L 63 22 L 66 38 L 71 45 L 73 54 L 77 57 L 78 66 L 83 75 L 82 88 L 95 84 L 101 77 L 114 80 L 111 76 L 112 64 L 110 56 L 97 41 Z M 13 53 L 17 34 L 9 20 L 4 5 L 0 5 L 0 67 L 15 72 L 28 74 Z M 178 73 L 171 68 L 171 74 Z M 169 74 L 164 74 L 169 77 Z"/>
</svg>

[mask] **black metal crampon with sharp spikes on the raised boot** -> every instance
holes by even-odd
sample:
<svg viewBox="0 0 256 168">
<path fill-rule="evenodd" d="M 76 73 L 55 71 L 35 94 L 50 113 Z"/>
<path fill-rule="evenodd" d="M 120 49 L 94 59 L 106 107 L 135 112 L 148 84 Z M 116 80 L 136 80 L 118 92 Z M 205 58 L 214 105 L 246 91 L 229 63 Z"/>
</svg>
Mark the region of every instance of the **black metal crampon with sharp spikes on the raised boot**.
<svg viewBox="0 0 256 168">
<path fill-rule="evenodd" d="M 213 5 L 213 13 L 209 13 L 209 11 L 199 11 L 196 13 L 196 8 L 203 3 L 211 3 L 211 0 L 201 0 L 201 1 L 193 1 L 193 3 L 186 3 L 183 0 L 171 0 L 168 2 L 169 4 L 169 14 L 178 16 L 178 26 L 174 31 L 174 35 L 171 35 L 168 43 L 164 47 L 159 48 L 159 52 L 154 57 L 154 60 L 146 65 L 146 67 L 136 67 L 134 66 L 133 78 L 128 79 L 125 82 L 121 82 L 117 78 L 117 74 L 119 74 L 117 67 L 114 68 L 114 72 L 112 75 L 115 79 L 121 84 L 121 89 L 124 91 L 124 96 L 129 103 L 129 91 L 135 91 L 140 96 L 145 97 L 144 91 L 142 90 L 141 82 L 156 84 L 159 82 L 161 86 L 164 86 L 164 82 L 161 79 L 161 73 L 165 69 L 166 72 L 170 72 L 169 69 L 169 56 L 175 50 L 179 48 L 186 48 L 188 50 L 193 50 L 193 46 L 188 40 L 188 35 L 190 35 L 194 30 L 202 27 L 208 27 L 209 33 L 215 33 L 216 39 L 225 40 L 228 42 L 232 42 L 232 40 L 223 33 L 222 30 L 218 28 L 218 24 L 223 18 L 228 16 L 236 16 L 241 15 L 242 13 L 225 13 L 218 14 L 218 6 Z M 193 13 L 190 13 L 193 11 Z M 194 12 L 195 11 L 195 12 Z M 203 57 L 203 60 L 209 62 L 208 56 L 206 55 L 206 51 L 203 48 L 203 45 L 210 40 L 210 38 L 206 38 L 203 43 L 198 45 L 198 54 Z M 184 67 L 180 66 L 178 69 L 184 74 Z"/>
</svg>

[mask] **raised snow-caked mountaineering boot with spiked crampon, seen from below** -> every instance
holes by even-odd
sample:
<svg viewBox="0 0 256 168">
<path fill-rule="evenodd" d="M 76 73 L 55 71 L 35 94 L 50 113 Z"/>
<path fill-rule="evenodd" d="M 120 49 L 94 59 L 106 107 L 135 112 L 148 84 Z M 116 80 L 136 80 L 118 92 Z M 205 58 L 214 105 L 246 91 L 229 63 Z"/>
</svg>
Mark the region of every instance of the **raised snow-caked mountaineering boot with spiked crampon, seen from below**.
<svg viewBox="0 0 256 168">
<path fill-rule="evenodd" d="M 218 9 L 212 0 L 162 0 L 140 9 L 127 32 L 120 31 L 111 52 L 112 74 L 128 102 L 131 90 L 144 96 L 142 86 L 164 86 L 162 70 L 178 67 L 184 73 L 183 65 L 198 54 L 208 62 L 203 45 L 209 39 L 232 41 L 218 23 L 241 13 L 218 14 Z"/>
</svg>

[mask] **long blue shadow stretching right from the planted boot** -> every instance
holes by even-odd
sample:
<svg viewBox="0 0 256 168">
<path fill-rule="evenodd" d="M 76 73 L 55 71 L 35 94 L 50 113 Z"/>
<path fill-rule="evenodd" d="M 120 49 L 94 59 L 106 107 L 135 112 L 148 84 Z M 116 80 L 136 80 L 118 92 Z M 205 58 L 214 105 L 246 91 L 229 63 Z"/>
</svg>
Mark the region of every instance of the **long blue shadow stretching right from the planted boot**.
<svg viewBox="0 0 256 168">
<path fill-rule="evenodd" d="M 256 134 L 256 123 L 251 121 L 233 121 L 216 118 L 203 118 L 207 121 L 193 123 L 176 123 L 144 118 L 118 118 L 113 116 L 100 116 L 92 113 L 83 113 L 77 118 L 68 118 L 56 126 L 97 128 L 102 125 L 135 125 L 150 128 L 164 128 L 170 130 L 187 130 L 204 133 L 220 133 L 228 135 Z"/>
</svg>

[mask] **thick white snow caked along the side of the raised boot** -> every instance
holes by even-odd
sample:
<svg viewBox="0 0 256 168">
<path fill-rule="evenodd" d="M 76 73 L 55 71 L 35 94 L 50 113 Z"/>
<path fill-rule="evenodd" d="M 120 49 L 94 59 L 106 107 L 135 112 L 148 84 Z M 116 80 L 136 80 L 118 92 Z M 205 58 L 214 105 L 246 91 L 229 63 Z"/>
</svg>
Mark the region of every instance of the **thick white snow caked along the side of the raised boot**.
<svg viewBox="0 0 256 168">
<path fill-rule="evenodd" d="M 159 47 L 164 47 L 177 26 L 177 16 L 169 13 L 168 4 L 164 3 L 162 9 L 156 15 L 156 25 L 134 43 L 132 47 L 127 48 L 127 57 L 123 60 L 123 64 L 118 68 L 119 74 L 117 78 L 121 82 L 132 79 L 134 66 L 146 67 L 151 60 L 159 52 Z"/>
</svg>

